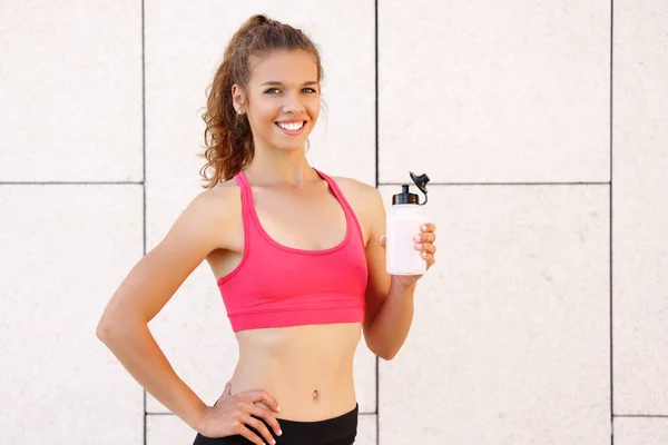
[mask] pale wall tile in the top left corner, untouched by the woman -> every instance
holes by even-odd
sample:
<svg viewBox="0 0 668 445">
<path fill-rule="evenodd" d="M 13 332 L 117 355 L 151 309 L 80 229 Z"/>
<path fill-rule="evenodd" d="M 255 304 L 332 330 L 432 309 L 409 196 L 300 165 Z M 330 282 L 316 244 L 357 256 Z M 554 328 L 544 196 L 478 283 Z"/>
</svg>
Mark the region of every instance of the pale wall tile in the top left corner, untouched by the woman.
<svg viewBox="0 0 668 445">
<path fill-rule="evenodd" d="M 0 181 L 140 181 L 141 3 L 3 3 Z"/>
</svg>

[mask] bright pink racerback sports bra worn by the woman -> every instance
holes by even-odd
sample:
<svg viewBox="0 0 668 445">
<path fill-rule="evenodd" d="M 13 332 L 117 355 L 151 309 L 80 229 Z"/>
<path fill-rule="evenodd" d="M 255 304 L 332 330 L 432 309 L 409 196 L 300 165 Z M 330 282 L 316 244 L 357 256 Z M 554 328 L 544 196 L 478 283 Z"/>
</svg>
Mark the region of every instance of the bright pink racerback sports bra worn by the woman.
<svg viewBox="0 0 668 445">
<path fill-rule="evenodd" d="M 234 332 L 328 323 L 362 323 L 367 266 L 360 222 L 336 182 L 314 169 L 343 207 L 341 244 L 304 250 L 278 244 L 263 229 L 244 171 L 234 177 L 242 191 L 244 254 L 217 281 Z"/>
</svg>

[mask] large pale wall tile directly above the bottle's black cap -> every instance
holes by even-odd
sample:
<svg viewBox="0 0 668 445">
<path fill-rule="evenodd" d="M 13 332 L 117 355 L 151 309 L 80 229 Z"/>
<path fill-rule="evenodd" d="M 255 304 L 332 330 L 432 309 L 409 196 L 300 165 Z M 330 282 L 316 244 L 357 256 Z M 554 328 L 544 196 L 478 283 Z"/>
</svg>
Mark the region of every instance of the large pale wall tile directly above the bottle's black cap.
<svg viewBox="0 0 668 445">
<path fill-rule="evenodd" d="M 609 180 L 610 3 L 383 1 L 381 182 Z"/>
</svg>

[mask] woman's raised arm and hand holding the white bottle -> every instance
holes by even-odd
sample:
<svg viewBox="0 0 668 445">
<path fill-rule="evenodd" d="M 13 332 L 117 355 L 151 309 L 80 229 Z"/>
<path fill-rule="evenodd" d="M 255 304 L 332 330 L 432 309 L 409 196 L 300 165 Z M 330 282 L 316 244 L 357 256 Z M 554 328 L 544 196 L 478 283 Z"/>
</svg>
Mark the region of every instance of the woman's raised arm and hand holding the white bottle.
<svg viewBox="0 0 668 445">
<path fill-rule="evenodd" d="M 364 338 L 369 348 L 386 360 L 394 358 L 404 344 L 413 320 L 413 295 L 422 275 L 389 275 L 385 269 L 385 208 L 380 192 L 373 189 L 366 207 L 370 237 L 366 244 L 369 283 L 366 285 L 366 312 Z M 415 249 L 426 260 L 428 269 L 434 264 L 436 227 L 422 226 Z"/>
</svg>

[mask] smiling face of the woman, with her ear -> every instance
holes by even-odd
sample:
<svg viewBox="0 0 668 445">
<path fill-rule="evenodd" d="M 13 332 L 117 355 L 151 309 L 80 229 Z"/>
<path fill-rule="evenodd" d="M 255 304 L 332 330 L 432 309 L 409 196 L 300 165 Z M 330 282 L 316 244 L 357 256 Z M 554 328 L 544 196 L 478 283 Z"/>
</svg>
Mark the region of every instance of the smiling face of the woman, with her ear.
<svg viewBox="0 0 668 445">
<path fill-rule="evenodd" d="M 304 150 L 321 109 L 317 67 L 302 50 L 250 58 L 246 90 L 233 87 L 235 107 L 247 113 L 256 149 Z"/>
</svg>

